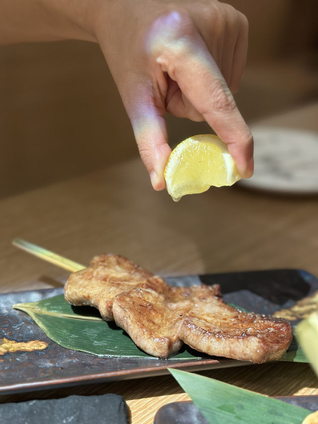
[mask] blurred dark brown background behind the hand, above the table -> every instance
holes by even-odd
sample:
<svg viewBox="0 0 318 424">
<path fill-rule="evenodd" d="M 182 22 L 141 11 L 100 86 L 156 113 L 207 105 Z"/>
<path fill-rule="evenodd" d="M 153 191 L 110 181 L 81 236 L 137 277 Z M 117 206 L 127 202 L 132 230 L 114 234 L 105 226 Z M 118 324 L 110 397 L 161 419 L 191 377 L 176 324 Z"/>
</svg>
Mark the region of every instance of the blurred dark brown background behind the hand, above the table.
<svg viewBox="0 0 318 424">
<path fill-rule="evenodd" d="M 249 20 L 236 95 L 248 123 L 318 97 L 318 2 L 230 0 Z M 170 144 L 210 132 L 167 116 Z M 99 47 L 66 41 L 0 47 L 0 197 L 138 155 Z"/>
</svg>

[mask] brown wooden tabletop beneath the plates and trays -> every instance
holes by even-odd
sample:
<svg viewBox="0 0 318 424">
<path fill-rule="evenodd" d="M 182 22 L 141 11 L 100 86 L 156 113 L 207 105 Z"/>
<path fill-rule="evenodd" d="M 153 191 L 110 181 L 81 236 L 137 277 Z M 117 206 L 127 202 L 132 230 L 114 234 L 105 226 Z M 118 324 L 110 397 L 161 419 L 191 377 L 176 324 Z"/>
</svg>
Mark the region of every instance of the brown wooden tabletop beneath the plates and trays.
<svg viewBox="0 0 318 424">
<path fill-rule="evenodd" d="M 262 124 L 318 131 L 318 104 Z M 239 186 L 211 188 L 174 203 L 151 188 L 139 158 L 0 201 L 0 291 L 62 286 L 68 272 L 11 246 L 15 237 L 87 263 L 122 254 L 162 276 L 301 268 L 318 276 L 318 196 L 292 197 Z M 266 395 L 318 395 L 310 366 L 269 363 L 202 372 Z M 15 395 L 117 393 L 133 424 L 188 397 L 170 376 Z M 1 402 L 12 401 L 4 396 Z"/>
</svg>

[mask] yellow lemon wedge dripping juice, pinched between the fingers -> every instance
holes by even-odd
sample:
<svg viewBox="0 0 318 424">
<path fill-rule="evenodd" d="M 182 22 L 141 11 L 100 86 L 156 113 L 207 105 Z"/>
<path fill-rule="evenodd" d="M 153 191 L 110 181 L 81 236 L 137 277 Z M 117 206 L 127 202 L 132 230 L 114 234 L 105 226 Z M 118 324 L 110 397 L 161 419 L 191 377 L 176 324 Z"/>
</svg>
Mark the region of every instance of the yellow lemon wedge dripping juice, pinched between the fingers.
<svg viewBox="0 0 318 424">
<path fill-rule="evenodd" d="M 189 137 L 178 144 L 163 176 L 175 202 L 185 194 L 202 193 L 211 185 L 232 185 L 241 178 L 227 145 L 212 134 Z"/>
</svg>

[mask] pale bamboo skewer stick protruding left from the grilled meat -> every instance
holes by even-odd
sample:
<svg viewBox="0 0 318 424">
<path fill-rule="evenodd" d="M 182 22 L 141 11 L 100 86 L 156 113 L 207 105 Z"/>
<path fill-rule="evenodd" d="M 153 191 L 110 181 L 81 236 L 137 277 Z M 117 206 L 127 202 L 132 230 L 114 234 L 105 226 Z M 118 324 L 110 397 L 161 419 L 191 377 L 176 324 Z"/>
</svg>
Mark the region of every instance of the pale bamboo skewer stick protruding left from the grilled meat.
<svg viewBox="0 0 318 424">
<path fill-rule="evenodd" d="M 71 272 L 79 271 L 80 269 L 86 268 L 86 266 L 81 265 L 78 262 L 74 262 L 71 259 L 60 256 L 54 252 L 50 252 L 46 249 L 41 248 L 40 246 L 33 245 L 32 243 L 26 242 L 23 239 L 14 239 L 12 242 L 13 246 L 16 246 L 19 249 L 24 250 L 34 256 L 38 256 L 47 262 L 51 262 L 54 265 L 60 266 L 61 268 L 67 269 Z"/>
</svg>

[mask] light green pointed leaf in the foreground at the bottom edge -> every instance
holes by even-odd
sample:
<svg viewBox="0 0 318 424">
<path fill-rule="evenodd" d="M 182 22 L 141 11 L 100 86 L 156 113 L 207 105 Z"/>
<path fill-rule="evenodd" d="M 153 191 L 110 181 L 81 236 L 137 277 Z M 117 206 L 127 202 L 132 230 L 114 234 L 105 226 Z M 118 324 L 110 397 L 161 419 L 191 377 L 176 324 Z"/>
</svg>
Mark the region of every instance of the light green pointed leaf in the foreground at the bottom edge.
<svg viewBox="0 0 318 424">
<path fill-rule="evenodd" d="M 168 368 L 209 423 L 301 424 L 311 411 L 231 384 Z"/>
</svg>

